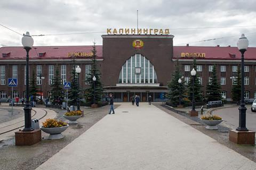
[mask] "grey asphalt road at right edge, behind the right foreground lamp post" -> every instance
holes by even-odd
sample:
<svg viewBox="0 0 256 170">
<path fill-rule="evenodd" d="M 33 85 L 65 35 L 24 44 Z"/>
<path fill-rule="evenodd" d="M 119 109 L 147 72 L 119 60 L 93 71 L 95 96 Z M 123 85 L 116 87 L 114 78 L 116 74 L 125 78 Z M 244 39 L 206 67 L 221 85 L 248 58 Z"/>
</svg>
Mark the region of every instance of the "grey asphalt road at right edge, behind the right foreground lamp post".
<svg viewBox="0 0 256 170">
<path fill-rule="evenodd" d="M 256 112 L 251 111 L 251 105 L 246 105 L 246 128 L 252 131 L 256 131 Z M 213 114 L 222 117 L 223 122 L 231 126 L 233 129 L 238 127 L 239 123 L 239 110 L 237 107 L 228 107 L 217 109 L 213 111 Z"/>
</svg>

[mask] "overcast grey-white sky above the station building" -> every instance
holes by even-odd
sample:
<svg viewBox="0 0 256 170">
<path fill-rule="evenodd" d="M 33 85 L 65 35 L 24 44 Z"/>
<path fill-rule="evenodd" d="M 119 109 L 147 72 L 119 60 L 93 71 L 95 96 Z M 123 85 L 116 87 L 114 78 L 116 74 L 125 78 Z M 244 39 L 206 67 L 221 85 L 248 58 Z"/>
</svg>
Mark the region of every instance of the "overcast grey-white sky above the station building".
<svg viewBox="0 0 256 170">
<path fill-rule="evenodd" d="M 0 24 L 30 35 L 102 32 L 33 37 L 34 46 L 102 45 L 107 28 L 174 29 L 174 45 L 236 46 L 241 33 L 256 47 L 256 1 L 237 0 L 1 0 Z M 237 27 L 255 25 L 254 27 Z M 175 28 L 234 27 L 214 29 Z M 233 36 L 233 37 L 230 37 Z M 229 37 L 218 40 L 195 41 Z M 0 26 L 0 44 L 21 46 L 21 36 Z M 2 46 L 0 46 L 2 47 Z"/>
</svg>

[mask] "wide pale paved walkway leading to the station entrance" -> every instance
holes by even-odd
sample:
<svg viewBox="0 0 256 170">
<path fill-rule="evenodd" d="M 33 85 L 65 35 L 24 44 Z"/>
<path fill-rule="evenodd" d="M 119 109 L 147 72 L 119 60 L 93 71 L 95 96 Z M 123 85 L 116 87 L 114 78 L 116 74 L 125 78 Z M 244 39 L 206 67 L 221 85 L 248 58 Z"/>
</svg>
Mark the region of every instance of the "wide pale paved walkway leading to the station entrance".
<svg viewBox="0 0 256 170">
<path fill-rule="evenodd" d="M 256 169 L 256 163 L 153 105 L 123 103 L 115 113 L 37 169 Z"/>
</svg>

